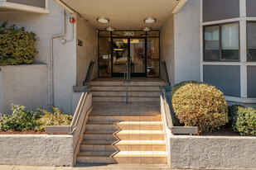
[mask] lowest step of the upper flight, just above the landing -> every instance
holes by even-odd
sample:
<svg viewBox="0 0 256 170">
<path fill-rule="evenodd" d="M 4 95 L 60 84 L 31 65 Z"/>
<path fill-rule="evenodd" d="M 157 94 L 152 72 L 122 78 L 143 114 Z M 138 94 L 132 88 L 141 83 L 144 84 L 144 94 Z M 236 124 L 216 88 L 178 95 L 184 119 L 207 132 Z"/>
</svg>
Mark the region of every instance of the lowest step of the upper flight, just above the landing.
<svg viewBox="0 0 256 170">
<path fill-rule="evenodd" d="M 126 97 L 93 96 L 93 102 L 126 102 Z M 160 102 L 160 97 L 128 97 L 128 102 Z"/>
</svg>

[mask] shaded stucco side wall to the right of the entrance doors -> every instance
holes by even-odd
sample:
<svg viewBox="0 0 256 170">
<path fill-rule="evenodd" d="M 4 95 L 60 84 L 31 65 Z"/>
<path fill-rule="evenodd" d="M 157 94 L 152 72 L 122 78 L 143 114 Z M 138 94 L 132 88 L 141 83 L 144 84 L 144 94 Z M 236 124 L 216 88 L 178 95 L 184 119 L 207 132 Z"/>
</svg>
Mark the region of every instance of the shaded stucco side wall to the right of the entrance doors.
<svg viewBox="0 0 256 170">
<path fill-rule="evenodd" d="M 171 86 L 174 85 L 175 70 L 174 70 L 174 16 L 171 15 L 168 21 L 160 30 L 160 52 L 161 61 L 167 64 L 167 72 Z"/>
</svg>

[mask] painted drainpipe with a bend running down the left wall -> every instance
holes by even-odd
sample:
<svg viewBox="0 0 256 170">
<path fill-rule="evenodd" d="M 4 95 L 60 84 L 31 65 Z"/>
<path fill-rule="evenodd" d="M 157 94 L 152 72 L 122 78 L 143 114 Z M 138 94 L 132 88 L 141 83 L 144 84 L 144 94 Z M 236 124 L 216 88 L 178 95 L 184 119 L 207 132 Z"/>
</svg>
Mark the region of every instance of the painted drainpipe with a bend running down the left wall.
<svg viewBox="0 0 256 170">
<path fill-rule="evenodd" d="M 60 34 L 51 35 L 51 106 L 54 106 L 54 59 L 53 59 L 53 40 L 65 35 L 65 9 L 63 9 L 62 15 L 62 32 Z"/>
</svg>

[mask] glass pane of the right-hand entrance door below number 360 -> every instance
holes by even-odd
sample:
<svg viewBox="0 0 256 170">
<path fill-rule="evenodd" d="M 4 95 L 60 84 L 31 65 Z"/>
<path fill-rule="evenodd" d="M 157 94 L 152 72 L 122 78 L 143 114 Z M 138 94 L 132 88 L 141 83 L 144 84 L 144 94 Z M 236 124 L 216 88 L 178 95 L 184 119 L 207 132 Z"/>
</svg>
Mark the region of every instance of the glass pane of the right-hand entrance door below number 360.
<svg viewBox="0 0 256 170">
<path fill-rule="evenodd" d="M 145 39 L 130 39 L 131 73 L 146 73 L 145 49 Z"/>
</svg>

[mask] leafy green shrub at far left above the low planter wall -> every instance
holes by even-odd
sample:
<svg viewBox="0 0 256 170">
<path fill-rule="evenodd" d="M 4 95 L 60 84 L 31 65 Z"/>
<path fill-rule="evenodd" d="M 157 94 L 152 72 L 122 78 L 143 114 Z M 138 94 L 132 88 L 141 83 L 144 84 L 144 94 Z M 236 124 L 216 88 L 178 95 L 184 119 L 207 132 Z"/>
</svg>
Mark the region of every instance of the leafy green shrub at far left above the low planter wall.
<svg viewBox="0 0 256 170">
<path fill-rule="evenodd" d="M 0 130 L 33 130 L 38 126 L 37 114 L 32 111 L 26 111 L 25 106 L 14 105 L 12 106 L 12 115 L 0 115 Z"/>
</svg>

